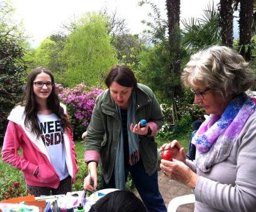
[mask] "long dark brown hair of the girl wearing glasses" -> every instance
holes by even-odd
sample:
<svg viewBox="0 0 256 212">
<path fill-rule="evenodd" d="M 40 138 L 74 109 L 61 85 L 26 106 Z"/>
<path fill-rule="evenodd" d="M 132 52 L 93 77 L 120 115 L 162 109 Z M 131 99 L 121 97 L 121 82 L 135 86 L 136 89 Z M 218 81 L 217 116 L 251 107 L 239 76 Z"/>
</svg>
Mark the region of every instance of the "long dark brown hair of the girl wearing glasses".
<svg viewBox="0 0 256 212">
<path fill-rule="evenodd" d="M 44 67 L 36 67 L 33 69 L 29 74 L 27 78 L 27 83 L 25 86 L 25 90 L 23 93 L 22 101 L 19 103 L 19 105 L 22 105 L 25 107 L 25 126 L 26 128 L 30 129 L 33 133 L 36 134 L 37 138 L 40 137 L 40 134 L 42 134 L 42 131 L 39 126 L 39 119 L 37 117 L 37 111 L 38 111 L 38 103 L 36 101 L 36 97 L 34 95 L 33 90 L 33 81 L 35 80 L 36 76 L 39 75 L 39 73 L 46 73 L 51 77 L 51 81 L 54 84 L 54 76 L 52 75 L 52 72 L 45 69 Z M 63 128 L 63 131 L 66 130 L 66 128 L 69 128 L 72 130 L 72 126 L 70 125 L 69 119 L 66 114 L 64 114 L 63 108 L 60 106 L 60 100 L 58 99 L 57 89 L 54 86 L 52 86 L 52 92 L 47 98 L 47 107 L 49 110 L 52 111 L 52 113 L 55 113 L 59 119 L 61 127 Z"/>
</svg>

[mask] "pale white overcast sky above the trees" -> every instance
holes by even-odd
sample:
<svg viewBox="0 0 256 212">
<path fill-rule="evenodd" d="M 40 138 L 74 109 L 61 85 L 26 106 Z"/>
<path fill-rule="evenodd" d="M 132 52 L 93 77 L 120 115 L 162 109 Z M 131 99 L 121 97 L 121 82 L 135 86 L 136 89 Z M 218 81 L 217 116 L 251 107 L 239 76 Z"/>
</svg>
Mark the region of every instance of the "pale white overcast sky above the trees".
<svg viewBox="0 0 256 212">
<path fill-rule="evenodd" d="M 165 0 L 151 0 L 160 8 L 161 16 L 167 19 Z M 37 47 L 42 40 L 61 30 L 61 25 L 69 19 L 79 18 L 88 11 L 107 10 L 117 11 L 117 16 L 126 19 L 132 34 L 140 34 L 145 29 L 141 20 L 148 20 L 150 8 L 144 5 L 139 7 L 139 0 L 12 0 L 16 8 L 18 20 L 29 36 L 30 43 Z M 202 10 L 207 7 L 207 0 L 181 0 L 181 19 L 201 17 Z M 215 0 L 214 4 L 219 1 Z"/>
</svg>

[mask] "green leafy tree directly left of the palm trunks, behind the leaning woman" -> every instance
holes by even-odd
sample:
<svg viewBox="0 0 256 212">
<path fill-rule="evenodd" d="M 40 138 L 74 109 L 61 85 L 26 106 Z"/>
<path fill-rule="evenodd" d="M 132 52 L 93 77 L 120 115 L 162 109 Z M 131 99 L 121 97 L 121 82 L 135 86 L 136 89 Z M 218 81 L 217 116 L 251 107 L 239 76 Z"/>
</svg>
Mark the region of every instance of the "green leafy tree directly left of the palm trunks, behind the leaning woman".
<svg viewBox="0 0 256 212">
<path fill-rule="evenodd" d="M 140 6 L 149 5 L 149 20 L 142 20 L 146 30 L 143 37 L 148 43 L 140 52 L 139 66 L 136 75 L 139 81 L 147 84 L 154 90 L 161 102 L 171 102 L 170 91 L 173 89 L 173 80 L 170 73 L 169 39 L 167 38 L 168 23 L 161 17 L 160 9 L 154 2 L 145 0 Z"/>
</svg>

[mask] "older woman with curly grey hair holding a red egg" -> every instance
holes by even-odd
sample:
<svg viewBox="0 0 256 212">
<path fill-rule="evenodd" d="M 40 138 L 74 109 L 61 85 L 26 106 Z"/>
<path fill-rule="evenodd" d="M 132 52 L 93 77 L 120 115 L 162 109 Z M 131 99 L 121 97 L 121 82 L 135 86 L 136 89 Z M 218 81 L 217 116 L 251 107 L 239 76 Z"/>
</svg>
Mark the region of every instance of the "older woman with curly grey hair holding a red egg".
<svg viewBox="0 0 256 212">
<path fill-rule="evenodd" d="M 163 145 L 173 161 L 161 170 L 195 193 L 195 211 L 255 211 L 255 99 L 245 91 L 254 83 L 249 63 L 233 49 L 212 46 L 192 56 L 182 74 L 195 103 L 210 114 L 192 143 L 196 159 L 186 160 L 177 140 Z"/>
</svg>

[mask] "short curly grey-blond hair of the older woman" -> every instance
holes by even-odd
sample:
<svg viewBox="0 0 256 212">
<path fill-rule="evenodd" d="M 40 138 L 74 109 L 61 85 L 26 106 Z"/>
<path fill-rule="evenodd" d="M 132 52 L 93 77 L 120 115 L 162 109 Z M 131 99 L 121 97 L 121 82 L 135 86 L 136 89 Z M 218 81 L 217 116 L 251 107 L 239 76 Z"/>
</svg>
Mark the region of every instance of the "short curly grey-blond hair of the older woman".
<svg viewBox="0 0 256 212">
<path fill-rule="evenodd" d="M 181 80 L 184 86 L 204 86 L 226 98 L 248 90 L 254 84 L 255 73 L 234 49 L 211 46 L 192 55 Z"/>
</svg>

